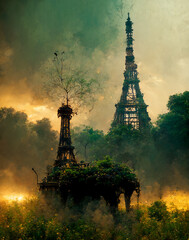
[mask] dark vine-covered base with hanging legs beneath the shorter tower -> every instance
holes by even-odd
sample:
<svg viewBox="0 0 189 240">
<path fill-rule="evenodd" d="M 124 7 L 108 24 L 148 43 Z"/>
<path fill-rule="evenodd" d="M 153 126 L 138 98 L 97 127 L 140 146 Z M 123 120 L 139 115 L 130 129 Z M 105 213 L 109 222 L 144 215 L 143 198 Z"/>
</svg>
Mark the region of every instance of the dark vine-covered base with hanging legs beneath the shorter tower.
<svg viewBox="0 0 189 240">
<path fill-rule="evenodd" d="M 91 166 L 62 168 L 48 176 L 49 181 L 58 179 L 59 193 L 64 201 L 71 197 L 77 205 L 85 200 L 99 200 L 101 197 L 118 208 L 119 196 L 124 193 L 127 211 L 131 195 L 140 193 L 136 174 L 126 165 L 115 164 L 109 156 Z M 87 199 L 86 199 L 87 197 Z"/>
</svg>

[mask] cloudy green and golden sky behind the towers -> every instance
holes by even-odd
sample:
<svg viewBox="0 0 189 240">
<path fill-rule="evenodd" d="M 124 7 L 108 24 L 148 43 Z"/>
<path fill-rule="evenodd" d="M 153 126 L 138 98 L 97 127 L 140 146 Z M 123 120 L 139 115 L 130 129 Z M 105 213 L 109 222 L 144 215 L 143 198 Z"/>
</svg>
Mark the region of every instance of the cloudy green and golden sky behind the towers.
<svg viewBox="0 0 189 240">
<path fill-rule="evenodd" d="M 0 107 L 49 118 L 59 129 L 61 102 L 44 93 L 44 66 L 56 50 L 101 83 L 93 109 L 82 107 L 72 126 L 108 131 L 125 68 L 125 21 L 134 22 L 140 87 L 153 122 L 170 95 L 189 89 L 188 0 L 9 0 L 0 3 Z M 56 92 L 55 92 L 56 93 Z"/>
</svg>

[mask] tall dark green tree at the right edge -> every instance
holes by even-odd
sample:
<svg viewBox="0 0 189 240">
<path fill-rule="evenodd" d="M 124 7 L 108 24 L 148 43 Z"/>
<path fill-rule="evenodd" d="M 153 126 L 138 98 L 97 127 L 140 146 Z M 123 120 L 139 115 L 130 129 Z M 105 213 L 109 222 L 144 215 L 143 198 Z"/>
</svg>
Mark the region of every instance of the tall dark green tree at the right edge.
<svg viewBox="0 0 189 240">
<path fill-rule="evenodd" d="M 189 147 L 189 92 L 170 96 L 168 113 L 159 116 L 154 131 L 162 149 L 174 152 Z"/>
</svg>

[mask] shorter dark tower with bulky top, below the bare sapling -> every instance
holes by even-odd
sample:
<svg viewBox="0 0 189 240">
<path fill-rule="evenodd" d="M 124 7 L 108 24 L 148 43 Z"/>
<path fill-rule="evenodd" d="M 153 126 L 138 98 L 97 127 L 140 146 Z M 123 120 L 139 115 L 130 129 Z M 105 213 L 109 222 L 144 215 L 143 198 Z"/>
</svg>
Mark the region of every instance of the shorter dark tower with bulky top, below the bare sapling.
<svg viewBox="0 0 189 240">
<path fill-rule="evenodd" d="M 68 105 L 68 101 L 66 105 L 62 104 L 62 106 L 58 109 L 58 117 L 61 117 L 61 127 L 57 159 L 54 163 L 54 166 L 57 167 L 77 164 L 70 135 L 70 120 L 72 118 L 72 114 L 73 111 Z"/>
</svg>

